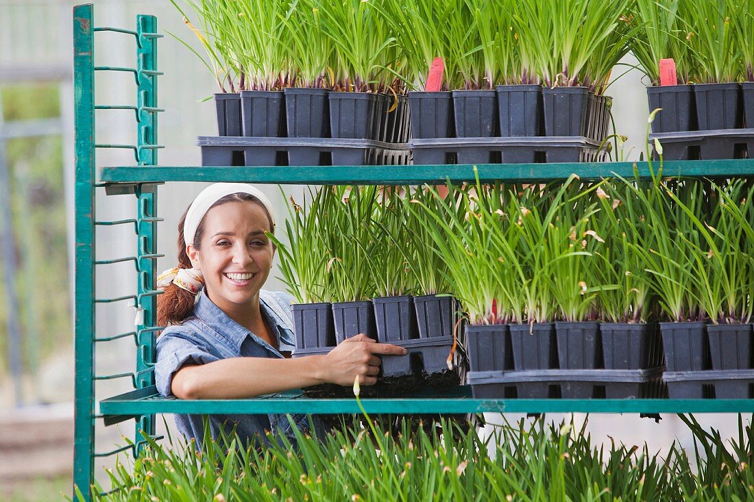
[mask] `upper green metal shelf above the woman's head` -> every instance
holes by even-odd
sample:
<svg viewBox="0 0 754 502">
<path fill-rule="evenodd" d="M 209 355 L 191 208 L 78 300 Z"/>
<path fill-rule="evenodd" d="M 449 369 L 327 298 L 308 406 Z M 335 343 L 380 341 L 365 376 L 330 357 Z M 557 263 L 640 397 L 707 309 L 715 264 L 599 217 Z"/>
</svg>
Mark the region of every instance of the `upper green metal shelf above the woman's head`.
<svg viewBox="0 0 754 502">
<path fill-rule="evenodd" d="M 654 171 L 660 163 L 652 163 Z M 428 166 L 290 166 L 290 167 L 199 167 L 125 166 L 104 167 L 103 182 L 253 182 L 284 185 L 417 185 L 421 183 L 473 182 L 474 165 L 440 164 Z M 480 181 L 544 182 L 610 176 L 651 177 L 647 162 L 583 162 L 576 164 L 478 164 Z M 725 161 L 665 161 L 663 176 L 754 177 L 754 159 Z"/>
</svg>

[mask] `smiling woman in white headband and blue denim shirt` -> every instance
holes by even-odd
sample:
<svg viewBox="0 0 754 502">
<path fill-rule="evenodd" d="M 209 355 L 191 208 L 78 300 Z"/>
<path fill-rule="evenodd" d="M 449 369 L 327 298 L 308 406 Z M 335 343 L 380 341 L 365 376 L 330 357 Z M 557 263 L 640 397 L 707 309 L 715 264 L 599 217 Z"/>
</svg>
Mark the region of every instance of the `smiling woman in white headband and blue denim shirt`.
<svg viewBox="0 0 754 502">
<path fill-rule="evenodd" d="M 290 359 L 294 347 L 292 297 L 262 289 L 276 248 L 274 213 L 252 185 L 217 183 L 192 202 L 179 223 L 178 266 L 158 277 L 158 322 L 169 325 L 157 344 L 155 380 L 164 396 L 241 399 L 330 383 L 375 384 L 377 354 L 406 354 L 365 335 L 348 338 L 326 355 Z M 295 416 L 311 430 L 316 421 Z M 201 416 L 176 415 L 185 436 L 201 441 Z M 249 444 L 265 430 L 293 438 L 284 415 L 213 415 L 210 433 L 236 427 Z M 316 430 L 317 427 L 314 427 Z"/>
</svg>

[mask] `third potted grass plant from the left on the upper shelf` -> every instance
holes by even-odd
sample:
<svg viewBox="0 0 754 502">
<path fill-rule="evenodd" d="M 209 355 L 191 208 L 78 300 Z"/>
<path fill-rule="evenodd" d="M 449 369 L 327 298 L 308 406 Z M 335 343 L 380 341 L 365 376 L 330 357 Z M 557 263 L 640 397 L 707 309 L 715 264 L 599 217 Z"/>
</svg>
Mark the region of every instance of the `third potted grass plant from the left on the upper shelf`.
<svg viewBox="0 0 754 502">
<path fill-rule="evenodd" d="M 323 29 L 321 10 L 326 5 L 329 3 L 322 0 L 293 0 L 284 17 L 285 29 L 280 36 L 290 47 L 290 59 L 296 69 L 295 80 L 283 90 L 290 138 L 329 137 L 327 96 L 331 84 L 326 69 L 334 48 Z M 292 152 L 290 163 L 318 165 L 318 157 L 318 152 L 302 149 Z"/>
</svg>

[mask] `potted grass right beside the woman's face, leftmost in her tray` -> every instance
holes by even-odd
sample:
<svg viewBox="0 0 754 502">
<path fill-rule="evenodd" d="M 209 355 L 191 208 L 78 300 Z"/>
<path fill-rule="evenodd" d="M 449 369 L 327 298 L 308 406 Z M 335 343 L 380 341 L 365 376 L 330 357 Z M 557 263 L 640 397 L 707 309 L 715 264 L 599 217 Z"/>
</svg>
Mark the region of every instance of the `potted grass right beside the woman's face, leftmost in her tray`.
<svg viewBox="0 0 754 502">
<path fill-rule="evenodd" d="M 305 197 L 302 206 L 290 197 L 285 226 L 287 242 L 268 234 L 280 256 L 281 279 L 297 302 L 291 305 L 296 336 L 294 355 L 311 354 L 336 345 L 326 272 L 329 249 L 323 238 L 328 228 L 325 216 L 332 199 L 332 191 L 327 188 L 310 189 L 309 203 Z"/>
</svg>

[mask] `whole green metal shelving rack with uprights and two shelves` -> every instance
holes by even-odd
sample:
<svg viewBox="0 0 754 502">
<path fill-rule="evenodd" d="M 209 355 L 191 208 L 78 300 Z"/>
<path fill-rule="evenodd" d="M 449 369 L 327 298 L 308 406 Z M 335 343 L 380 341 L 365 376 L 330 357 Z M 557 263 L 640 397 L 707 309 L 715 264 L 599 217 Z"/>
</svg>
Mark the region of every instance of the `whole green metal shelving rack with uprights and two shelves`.
<svg viewBox="0 0 754 502">
<path fill-rule="evenodd" d="M 158 395 L 154 386 L 152 366 L 155 356 L 155 290 L 154 259 L 157 185 L 162 182 L 256 182 L 274 184 L 430 184 L 480 180 L 544 182 L 565 179 L 572 173 L 581 179 L 607 176 L 651 176 L 645 163 L 584 164 L 482 164 L 434 166 L 375 167 L 176 167 L 158 166 L 157 115 L 157 20 L 151 16 L 137 17 L 136 30 L 94 28 L 92 6 L 74 8 L 74 79 L 75 79 L 75 199 L 76 199 L 76 309 L 75 309 L 75 485 L 87 495 L 93 482 L 93 459 L 131 450 L 139 454 L 146 435 L 155 434 L 157 413 L 358 413 L 354 399 L 305 399 L 300 393 L 280 393 L 254 399 L 207 399 L 183 401 Z M 120 68 L 94 66 L 94 32 L 111 31 L 133 35 L 136 39 L 136 66 Z M 136 81 L 136 106 L 95 106 L 94 72 L 132 72 Z M 136 115 L 136 145 L 100 145 L 95 142 L 95 109 L 133 109 Z M 105 167 L 97 183 L 95 151 L 97 148 L 133 149 L 136 165 Z M 735 161 L 665 162 L 663 176 L 703 176 L 711 178 L 754 177 L 754 159 Z M 136 219 L 100 222 L 96 219 L 94 194 L 105 188 L 109 194 L 134 194 Z M 121 259 L 94 259 L 97 225 L 133 225 L 138 239 L 138 253 Z M 95 268 L 114 262 L 133 261 L 136 267 L 136 294 L 119 298 L 97 298 L 94 288 Z M 139 309 L 140 322 L 132 332 L 97 337 L 94 314 L 96 305 L 107 302 L 132 301 Z M 94 375 L 95 347 L 117 338 L 131 337 L 136 343 L 134 372 L 120 375 Z M 100 379 L 130 378 L 135 390 L 104 399 L 95 410 L 94 382 Z M 467 387 L 459 387 L 442 396 L 417 394 L 402 399 L 365 399 L 369 413 L 479 413 L 479 412 L 592 412 L 592 413 L 682 413 L 682 412 L 754 412 L 754 399 L 472 399 Z M 99 453 L 94 451 L 94 424 L 103 419 L 105 425 L 136 418 L 134 445 Z"/>
</svg>

